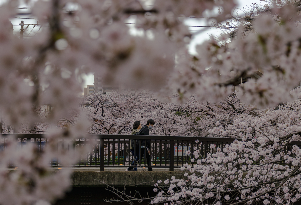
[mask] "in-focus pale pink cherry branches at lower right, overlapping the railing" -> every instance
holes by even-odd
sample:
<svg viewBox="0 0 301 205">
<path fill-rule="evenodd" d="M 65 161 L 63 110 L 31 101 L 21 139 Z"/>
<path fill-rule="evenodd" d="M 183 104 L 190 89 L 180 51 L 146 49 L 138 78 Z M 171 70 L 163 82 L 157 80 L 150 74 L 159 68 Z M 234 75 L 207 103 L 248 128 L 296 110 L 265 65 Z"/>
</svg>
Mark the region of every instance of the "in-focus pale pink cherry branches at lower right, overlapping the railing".
<svg viewBox="0 0 301 205">
<path fill-rule="evenodd" d="M 229 99 L 229 98 L 228 98 Z M 201 154 L 201 143 L 188 155 L 191 161 L 182 177 L 155 183 L 152 204 L 291 204 L 301 198 L 300 99 L 278 109 L 256 110 L 233 123 L 215 123 L 209 133 L 235 137 L 231 145 L 210 145 Z M 114 191 L 114 190 L 113 190 Z M 116 192 L 124 200 L 141 200 Z"/>
</svg>

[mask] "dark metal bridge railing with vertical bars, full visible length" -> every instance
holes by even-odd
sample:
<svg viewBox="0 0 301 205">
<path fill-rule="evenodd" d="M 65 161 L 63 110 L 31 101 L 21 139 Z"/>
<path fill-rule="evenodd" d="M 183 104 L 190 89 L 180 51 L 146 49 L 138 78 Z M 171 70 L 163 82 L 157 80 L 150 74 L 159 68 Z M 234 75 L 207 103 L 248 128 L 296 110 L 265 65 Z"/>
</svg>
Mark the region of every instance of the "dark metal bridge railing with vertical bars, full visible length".
<svg viewBox="0 0 301 205">
<path fill-rule="evenodd" d="M 45 147 L 51 142 L 53 145 L 53 139 L 47 138 L 46 134 L 1 134 L 0 152 L 5 150 L 8 140 L 16 140 L 16 151 L 22 149 L 28 143 L 34 144 L 38 152 L 43 152 Z M 135 139 L 138 142 L 138 146 L 134 147 L 134 155 L 130 151 L 130 139 Z M 92 135 L 87 134 L 81 138 L 73 139 L 73 141 L 65 142 L 64 139 L 56 139 L 54 144 L 57 149 L 64 148 L 67 150 L 79 149 L 81 147 L 88 150 L 85 155 L 79 159 L 74 159 L 73 167 L 99 167 L 101 171 L 105 167 L 134 167 L 130 166 L 133 161 L 138 163 L 136 167 L 164 167 L 173 171 L 174 168 L 182 167 L 186 162 L 189 162 L 193 157 L 194 147 L 198 143 L 202 143 L 199 146 L 200 155 L 206 157 L 208 153 L 213 153 L 216 148 L 223 149 L 226 144 L 234 142 L 235 138 L 214 138 L 214 137 L 186 137 L 186 136 L 145 136 L 145 135 Z M 150 140 L 150 158 L 151 164 L 147 166 L 147 159 L 141 158 L 141 160 L 135 159 L 134 156 L 137 153 L 139 156 L 146 156 L 147 150 L 144 149 L 144 153 L 141 153 L 139 147 L 146 146 L 146 140 Z M 237 139 L 241 140 L 241 139 Z M 214 148 L 210 148 L 210 145 L 215 145 Z M 289 143 L 285 149 L 291 150 L 291 145 L 298 145 L 301 147 L 300 141 L 293 141 Z M 191 151 L 190 154 L 186 151 Z M 194 163 L 191 164 L 193 166 Z M 11 162 L 10 167 L 15 167 L 17 164 Z M 60 158 L 54 158 L 49 161 L 51 167 L 62 167 L 60 165 Z"/>
</svg>

